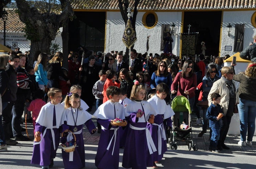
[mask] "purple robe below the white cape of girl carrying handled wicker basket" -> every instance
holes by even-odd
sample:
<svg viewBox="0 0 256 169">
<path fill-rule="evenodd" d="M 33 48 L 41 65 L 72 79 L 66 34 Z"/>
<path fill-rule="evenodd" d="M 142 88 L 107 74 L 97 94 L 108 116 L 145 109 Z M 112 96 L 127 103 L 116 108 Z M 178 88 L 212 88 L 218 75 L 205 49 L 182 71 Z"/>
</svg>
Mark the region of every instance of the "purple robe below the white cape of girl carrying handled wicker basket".
<svg viewBox="0 0 256 169">
<path fill-rule="evenodd" d="M 93 121 L 91 119 L 87 120 L 85 123 L 86 127 L 88 128 L 90 134 L 95 127 Z M 69 125 L 69 130 L 73 131 L 75 126 Z M 83 124 L 76 126 L 77 131 L 83 129 Z M 85 149 L 84 149 L 84 138 L 83 132 L 80 134 L 75 134 L 76 137 L 76 146 L 75 151 L 73 152 L 73 161 L 69 161 L 70 153 L 66 153 L 62 149 L 62 159 L 64 163 L 65 169 L 79 169 L 85 167 Z"/>
</svg>

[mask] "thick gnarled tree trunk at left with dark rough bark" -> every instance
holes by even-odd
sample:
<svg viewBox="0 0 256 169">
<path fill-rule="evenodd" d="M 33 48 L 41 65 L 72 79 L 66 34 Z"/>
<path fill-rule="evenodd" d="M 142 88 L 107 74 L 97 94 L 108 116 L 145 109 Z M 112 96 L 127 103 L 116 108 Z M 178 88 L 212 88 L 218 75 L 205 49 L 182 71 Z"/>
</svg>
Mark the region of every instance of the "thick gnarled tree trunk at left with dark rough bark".
<svg viewBox="0 0 256 169">
<path fill-rule="evenodd" d="M 69 0 L 59 0 L 59 4 L 52 0 L 44 3 L 45 6 L 41 3 L 45 1 L 40 1 L 41 8 L 29 5 L 26 0 L 15 1 L 20 20 L 26 24 L 24 30 L 27 39 L 31 40 L 30 56 L 32 57 L 29 59 L 28 65 L 32 65 L 38 57 L 34 56 L 37 51 L 49 52 L 51 41 L 55 39 L 59 28 L 65 24 L 68 18 L 74 16 L 74 12 Z M 44 7 L 42 8 L 42 6 Z M 56 10 L 56 6 L 59 6 L 59 10 Z"/>
</svg>

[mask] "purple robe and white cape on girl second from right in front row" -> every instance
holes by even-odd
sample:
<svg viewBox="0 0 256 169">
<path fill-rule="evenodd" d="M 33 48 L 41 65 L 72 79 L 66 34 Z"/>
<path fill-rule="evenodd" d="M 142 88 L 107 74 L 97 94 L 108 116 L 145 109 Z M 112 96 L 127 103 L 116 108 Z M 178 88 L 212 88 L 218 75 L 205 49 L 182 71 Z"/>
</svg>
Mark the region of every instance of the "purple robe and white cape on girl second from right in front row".
<svg viewBox="0 0 256 169">
<path fill-rule="evenodd" d="M 138 109 L 142 110 L 141 105 L 143 105 L 145 114 L 141 118 L 136 118 Z M 125 107 L 124 112 L 128 123 L 138 128 L 146 128 L 150 114 L 156 115 L 154 108 L 146 101 L 132 101 Z M 146 169 L 147 167 L 153 166 L 153 158 L 149 152 L 145 129 L 136 130 L 129 128 L 124 147 L 122 166 L 133 169 Z"/>
</svg>

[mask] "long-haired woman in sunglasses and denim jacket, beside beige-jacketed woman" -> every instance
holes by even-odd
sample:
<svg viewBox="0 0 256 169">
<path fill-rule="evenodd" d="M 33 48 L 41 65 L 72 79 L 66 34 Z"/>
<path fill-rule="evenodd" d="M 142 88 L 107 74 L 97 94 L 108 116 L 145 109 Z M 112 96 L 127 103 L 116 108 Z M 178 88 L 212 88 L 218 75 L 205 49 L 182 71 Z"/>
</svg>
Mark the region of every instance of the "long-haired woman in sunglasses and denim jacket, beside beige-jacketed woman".
<svg viewBox="0 0 256 169">
<path fill-rule="evenodd" d="M 208 94 L 211 90 L 211 87 L 214 82 L 219 80 L 219 71 L 215 64 L 209 64 L 208 69 L 206 71 L 206 76 L 203 78 L 203 101 L 207 101 Z M 209 119 L 206 118 L 206 111 L 207 109 L 203 109 L 203 130 L 198 134 L 198 137 L 202 137 L 206 133 L 207 124 Z"/>
</svg>

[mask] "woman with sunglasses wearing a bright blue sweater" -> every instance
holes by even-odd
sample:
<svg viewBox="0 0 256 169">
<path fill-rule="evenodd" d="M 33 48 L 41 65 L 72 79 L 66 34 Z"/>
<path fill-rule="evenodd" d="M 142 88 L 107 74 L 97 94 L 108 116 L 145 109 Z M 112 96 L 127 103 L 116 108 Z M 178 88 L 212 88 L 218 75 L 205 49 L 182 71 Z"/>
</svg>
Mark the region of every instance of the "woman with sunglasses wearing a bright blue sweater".
<svg viewBox="0 0 256 169">
<path fill-rule="evenodd" d="M 172 75 L 168 72 L 167 63 L 165 61 L 160 61 L 157 66 L 157 71 L 152 74 L 150 81 L 151 89 L 155 89 L 160 83 L 166 83 L 169 89 L 172 84 Z"/>
</svg>

